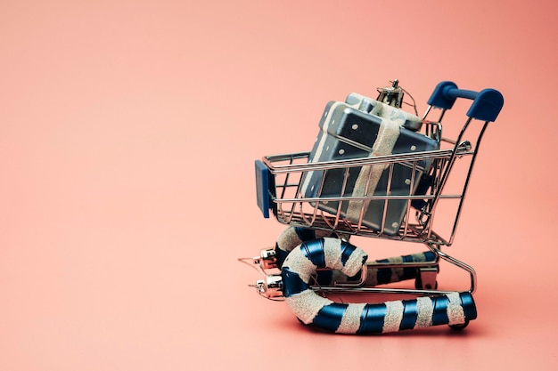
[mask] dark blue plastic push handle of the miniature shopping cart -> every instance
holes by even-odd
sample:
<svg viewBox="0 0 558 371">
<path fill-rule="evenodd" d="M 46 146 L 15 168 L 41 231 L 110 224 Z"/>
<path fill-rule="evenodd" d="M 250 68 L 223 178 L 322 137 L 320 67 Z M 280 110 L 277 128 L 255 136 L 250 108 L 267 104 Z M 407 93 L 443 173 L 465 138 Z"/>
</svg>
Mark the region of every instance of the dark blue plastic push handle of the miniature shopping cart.
<svg viewBox="0 0 558 371">
<path fill-rule="evenodd" d="M 495 89 L 484 89 L 480 92 L 458 89 L 455 83 L 443 81 L 436 86 L 428 104 L 439 109 L 451 109 L 457 98 L 472 100 L 467 116 L 481 121 L 495 121 L 504 106 L 502 93 Z"/>
</svg>

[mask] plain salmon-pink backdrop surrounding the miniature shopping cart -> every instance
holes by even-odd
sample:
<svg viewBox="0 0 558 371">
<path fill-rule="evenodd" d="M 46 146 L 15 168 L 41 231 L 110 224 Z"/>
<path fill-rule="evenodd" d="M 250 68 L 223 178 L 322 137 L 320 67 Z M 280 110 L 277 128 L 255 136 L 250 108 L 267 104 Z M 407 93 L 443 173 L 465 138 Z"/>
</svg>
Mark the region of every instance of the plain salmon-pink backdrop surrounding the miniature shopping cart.
<svg viewBox="0 0 558 371">
<path fill-rule="evenodd" d="M 555 369 L 557 10 L 2 2 L 0 369 Z M 478 271 L 479 319 L 315 333 L 236 262 L 283 230 L 252 162 L 309 149 L 327 101 L 393 78 L 421 112 L 442 80 L 505 96 L 450 247 Z"/>
</svg>

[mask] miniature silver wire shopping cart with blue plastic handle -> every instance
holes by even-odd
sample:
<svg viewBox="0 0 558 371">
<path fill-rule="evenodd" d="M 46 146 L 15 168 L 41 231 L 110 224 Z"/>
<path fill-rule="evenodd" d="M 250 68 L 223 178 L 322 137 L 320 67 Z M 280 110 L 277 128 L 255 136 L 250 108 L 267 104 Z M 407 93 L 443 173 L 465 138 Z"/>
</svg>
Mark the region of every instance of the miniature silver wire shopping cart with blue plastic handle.
<svg viewBox="0 0 558 371">
<path fill-rule="evenodd" d="M 442 119 L 447 110 L 452 109 L 457 98 L 466 98 L 473 101 L 471 108 L 467 111 L 467 118 L 461 131 L 455 139 L 442 135 Z M 455 240 L 455 233 L 460 221 L 464 207 L 464 199 L 469 187 L 472 169 L 479 154 L 480 141 L 490 122 L 493 122 L 503 106 L 502 94 L 494 89 L 485 89 L 480 93 L 458 89 L 454 83 L 440 83 L 429 100 L 429 106 L 423 115 L 423 133 L 439 142 L 439 149 L 404 153 L 389 156 L 352 158 L 324 162 L 311 162 L 310 152 L 294 152 L 280 155 L 266 156 L 256 161 L 256 180 L 258 206 L 265 217 L 269 217 L 269 211 L 274 214 L 278 222 L 283 224 L 308 229 L 331 232 L 337 238 L 349 241 L 352 236 L 365 238 L 380 238 L 398 240 L 402 242 L 419 243 L 428 247 L 433 254 L 431 259 L 424 262 L 366 262 L 363 266 L 360 279 L 357 282 L 334 282 L 331 286 L 315 285 L 312 288 L 323 293 L 349 292 L 349 293 L 383 293 L 383 294 L 415 294 L 415 295 L 440 295 L 449 294 L 450 291 L 437 289 L 437 273 L 439 261 L 443 260 L 466 271 L 470 277 L 470 286 L 466 290 L 472 294 L 477 286 L 475 270 L 468 264 L 455 257 L 442 252 L 442 247 L 451 246 Z M 439 117 L 431 120 L 433 112 L 438 110 Z M 474 122 L 477 127 L 476 134 L 469 136 Z M 473 130 L 474 131 L 474 130 Z M 467 138 L 467 139 L 465 139 Z M 415 194 L 409 189 L 406 195 L 390 194 L 391 175 L 394 165 L 404 165 L 412 170 L 410 183 L 414 184 L 414 176 L 427 175 L 427 191 L 423 194 Z M 447 191 L 447 183 L 452 178 L 456 165 L 465 167 L 465 175 L 460 184 L 455 184 L 452 191 Z M 341 190 L 345 190 L 349 178 L 349 169 L 354 167 L 382 166 L 384 172 L 388 172 L 388 187 L 385 194 L 346 196 L 341 191 L 340 196 L 322 197 L 320 191 L 325 173 L 332 170 L 344 171 Z M 317 196 L 308 197 L 301 191 L 301 185 L 308 173 L 322 173 L 322 184 L 317 191 Z M 416 175 L 415 175 L 416 174 Z M 381 228 L 371 228 L 363 221 L 365 206 L 370 201 L 381 200 L 384 203 Z M 343 203 L 360 202 L 362 210 L 355 221 L 343 215 L 341 206 Z M 406 202 L 406 213 L 400 225 L 398 233 L 387 233 L 384 230 L 386 222 L 386 211 L 390 202 Z M 435 231 L 435 220 L 440 204 L 451 202 L 451 225 L 448 230 Z M 337 212 L 324 211 L 321 207 L 327 203 L 335 203 Z M 447 218 L 447 212 L 444 213 Z M 277 268 L 276 255 L 269 249 L 263 250 L 259 257 L 254 258 L 264 273 L 269 269 Z M 393 288 L 393 287 L 370 287 L 365 286 L 367 272 L 382 269 L 409 269 L 417 270 L 415 278 L 415 289 Z M 273 279 L 258 281 L 260 294 L 273 298 L 281 295 L 281 283 L 277 284 Z M 476 316 L 476 314 L 475 314 Z M 467 321 L 468 323 L 468 321 Z M 467 324 L 455 326 L 464 328 Z"/>
</svg>

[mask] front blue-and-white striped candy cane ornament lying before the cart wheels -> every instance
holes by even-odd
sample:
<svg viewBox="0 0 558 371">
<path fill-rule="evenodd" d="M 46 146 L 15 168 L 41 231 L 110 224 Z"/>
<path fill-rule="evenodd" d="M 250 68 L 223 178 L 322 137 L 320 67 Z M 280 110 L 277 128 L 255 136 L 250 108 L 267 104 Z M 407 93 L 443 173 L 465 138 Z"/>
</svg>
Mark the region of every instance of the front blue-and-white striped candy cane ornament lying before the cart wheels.
<svg viewBox="0 0 558 371">
<path fill-rule="evenodd" d="M 367 255 L 338 238 L 319 238 L 293 249 L 283 262 L 283 295 L 306 325 L 341 334 L 383 334 L 436 325 L 460 326 L 477 316 L 470 293 L 449 293 L 382 303 L 338 303 L 316 294 L 309 282 L 317 269 L 352 277 Z"/>
</svg>

